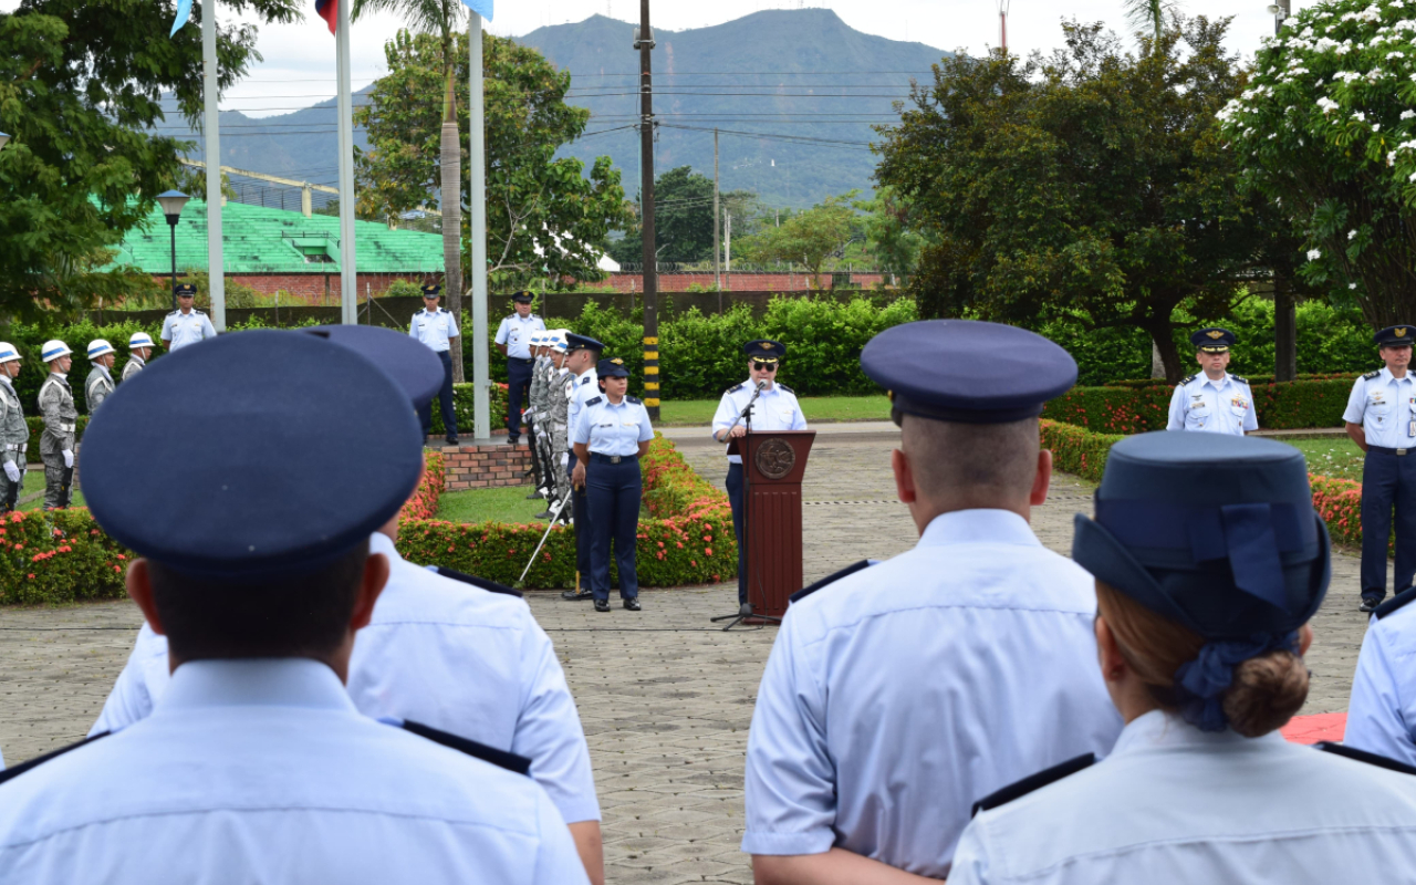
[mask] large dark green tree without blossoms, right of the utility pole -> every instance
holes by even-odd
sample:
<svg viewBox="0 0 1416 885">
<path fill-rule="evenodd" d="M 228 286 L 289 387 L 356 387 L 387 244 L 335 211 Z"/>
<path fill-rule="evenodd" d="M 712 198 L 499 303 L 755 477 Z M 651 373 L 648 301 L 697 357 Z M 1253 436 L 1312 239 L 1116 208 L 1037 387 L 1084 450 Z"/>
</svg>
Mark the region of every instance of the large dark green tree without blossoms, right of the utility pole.
<svg viewBox="0 0 1416 885">
<path fill-rule="evenodd" d="M 1140 57 L 1073 23 L 1049 59 L 936 65 L 877 171 L 932 239 L 922 313 L 1138 326 L 1184 374 L 1175 310 L 1223 314 L 1266 241 L 1215 120 L 1240 89 L 1229 21 L 1171 21 Z"/>
</svg>

